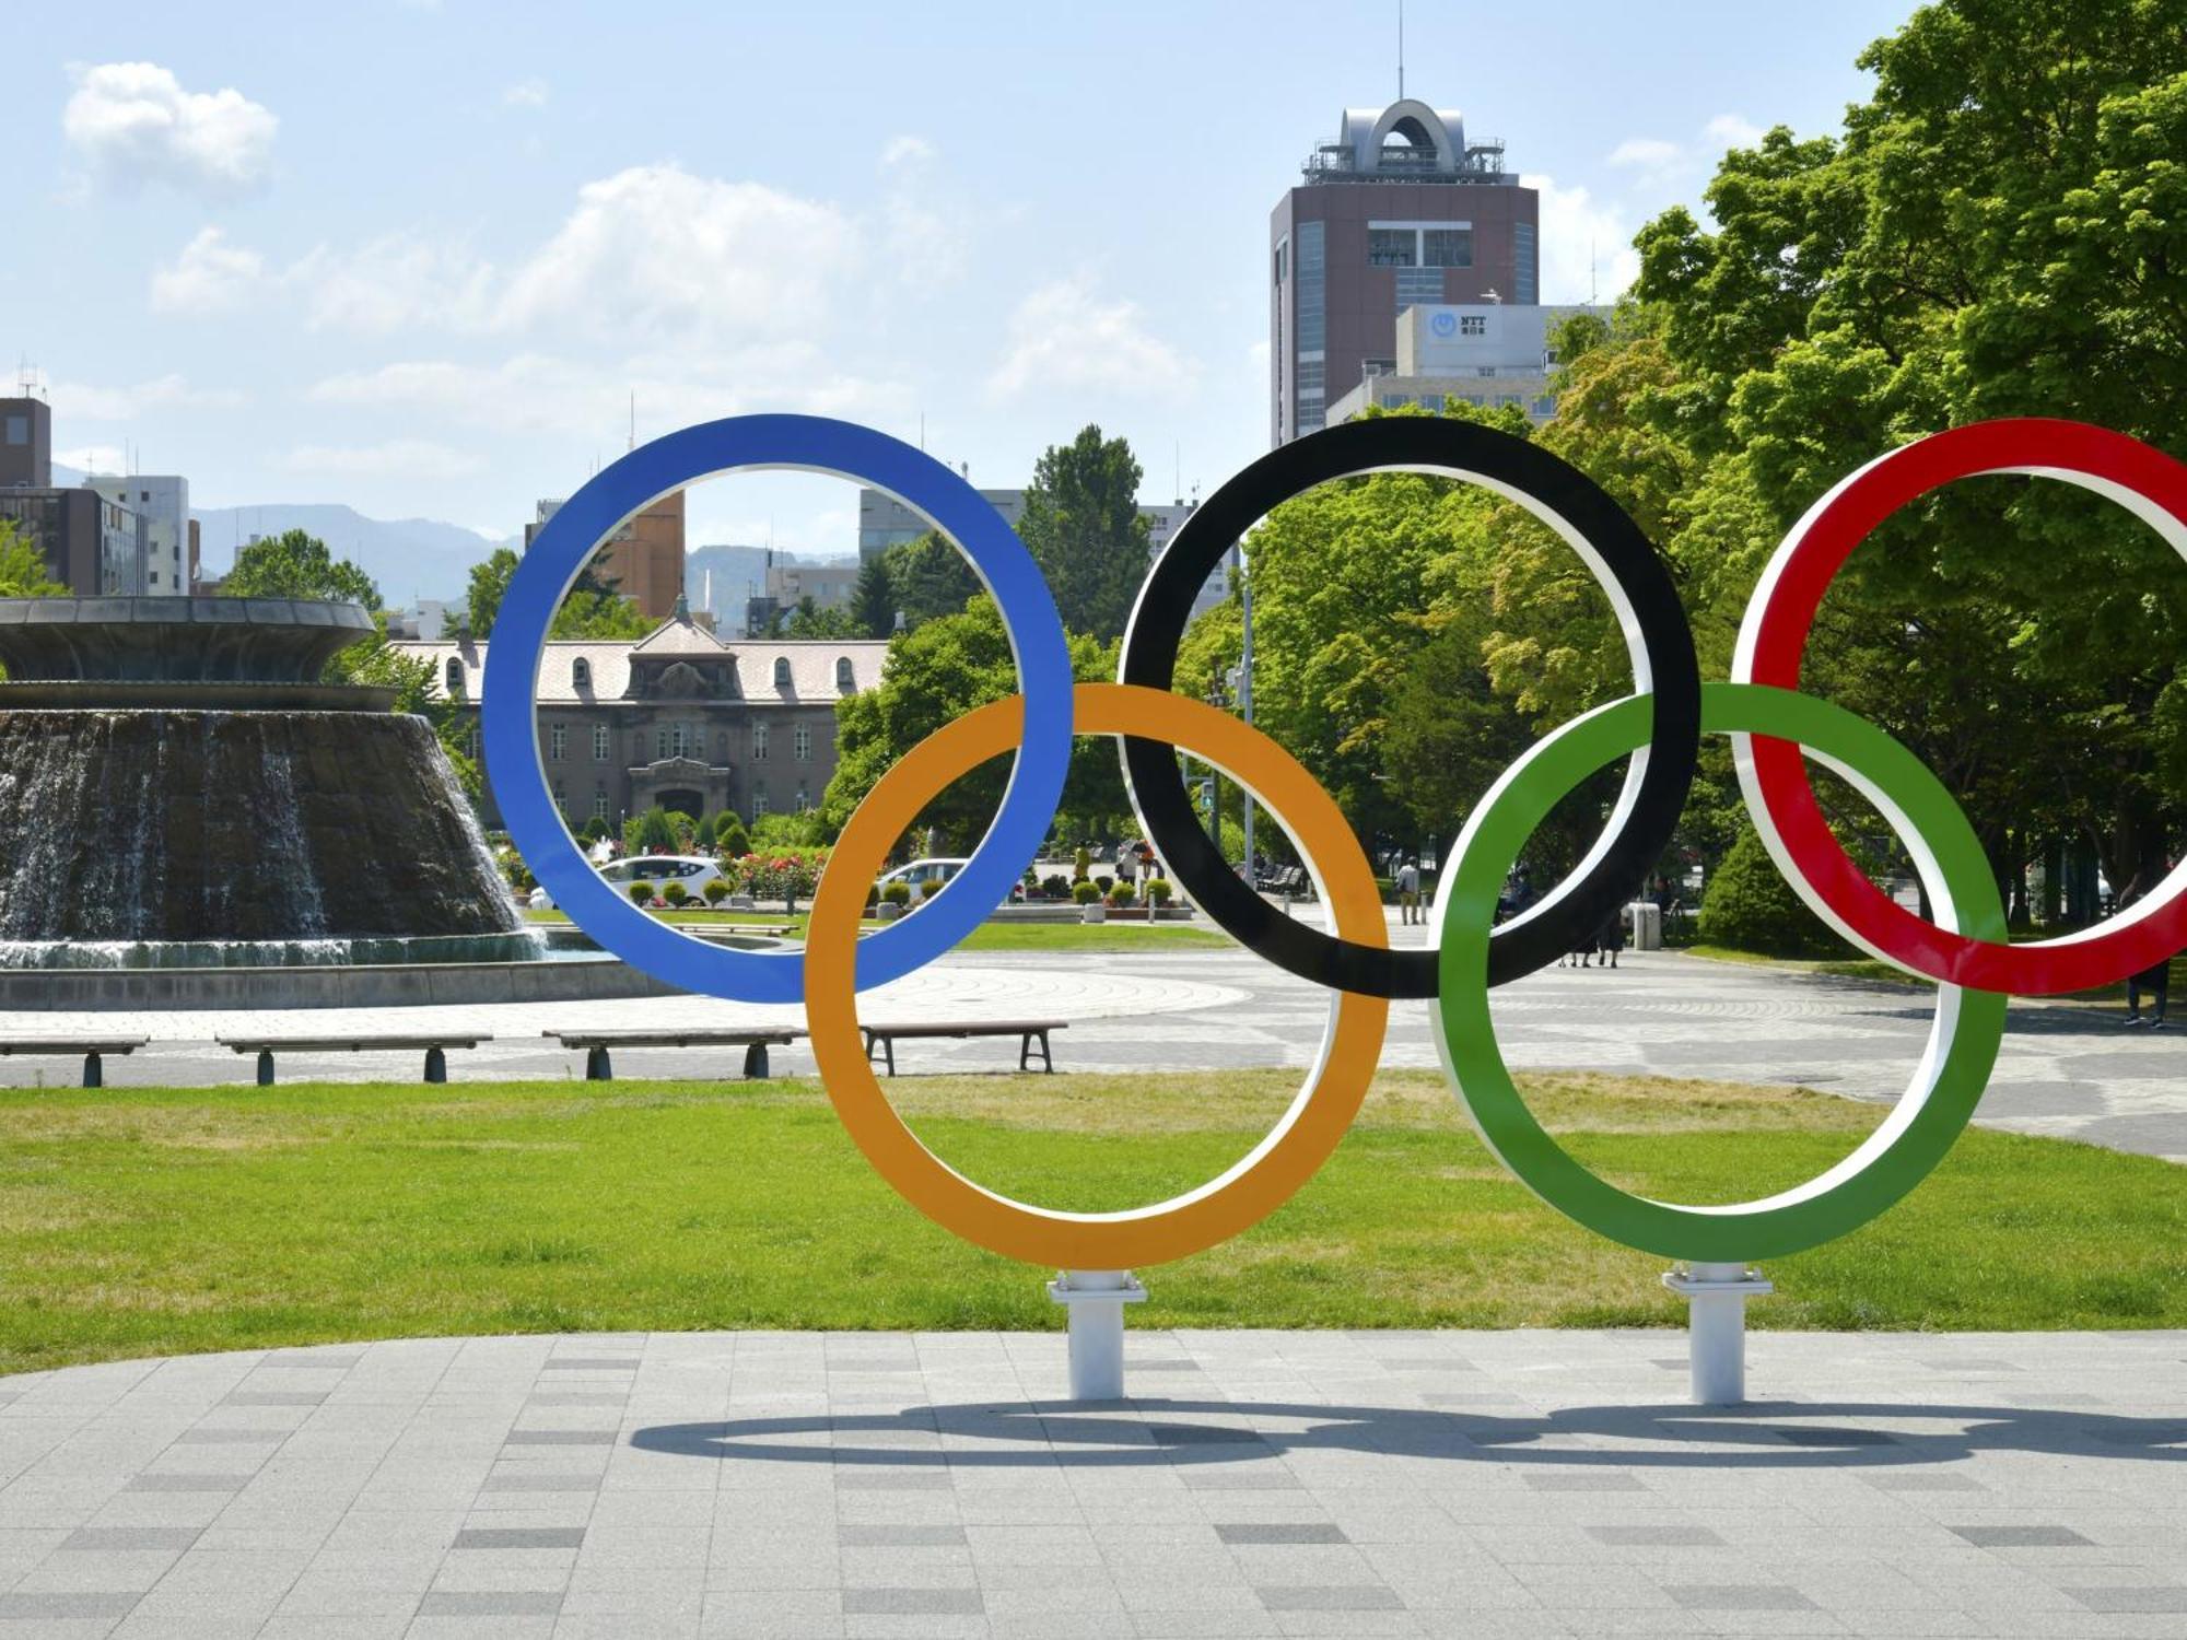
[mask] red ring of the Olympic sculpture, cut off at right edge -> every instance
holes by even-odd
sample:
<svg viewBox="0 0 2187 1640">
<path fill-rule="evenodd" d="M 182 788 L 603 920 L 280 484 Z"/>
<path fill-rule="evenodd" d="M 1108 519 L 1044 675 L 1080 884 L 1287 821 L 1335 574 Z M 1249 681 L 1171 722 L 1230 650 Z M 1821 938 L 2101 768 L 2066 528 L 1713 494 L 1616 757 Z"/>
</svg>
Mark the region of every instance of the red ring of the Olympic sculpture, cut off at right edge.
<svg viewBox="0 0 2187 1640">
<path fill-rule="evenodd" d="M 2126 433 L 2049 418 L 1955 426 L 1876 457 L 1791 527 L 1747 604 L 1732 678 L 1798 689 L 1815 610 L 1852 549 L 1909 501 L 1981 472 L 2034 472 L 2097 490 L 2150 523 L 2187 560 L 2187 466 L 2161 450 Z M 2130 912 L 2058 940 L 1997 945 L 1925 923 L 1846 857 L 1815 803 L 1800 748 L 1767 735 L 1747 739 L 1750 805 L 1761 798 L 1756 820 L 1765 840 L 1774 831 L 1782 844 L 1793 888 L 1887 962 L 1975 991 L 2047 997 L 2117 984 L 2187 947 L 2187 862 Z"/>
</svg>

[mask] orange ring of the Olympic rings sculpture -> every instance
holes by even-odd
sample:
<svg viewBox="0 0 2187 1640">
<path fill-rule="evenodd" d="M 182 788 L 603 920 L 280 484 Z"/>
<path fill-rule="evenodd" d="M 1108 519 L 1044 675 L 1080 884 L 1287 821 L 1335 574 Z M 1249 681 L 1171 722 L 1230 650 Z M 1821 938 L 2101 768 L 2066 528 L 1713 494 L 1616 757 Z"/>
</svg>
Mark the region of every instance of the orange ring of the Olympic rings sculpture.
<svg viewBox="0 0 2187 1640">
<path fill-rule="evenodd" d="M 1072 708 L 1083 735 L 1168 741 L 1251 787 L 1297 840 L 1336 912 L 1336 932 L 1360 945 L 1389 942 L 1382 897 L 1352 827 L 1282 746 L 1214 706 L 1135 684 L 1078 684 Z M 1122 1270 L 1188 1257 L 1258 1225 L 1328 1161 L 1367 1098 L 1389 1001 L 1334 993 L 1321 1058 L 1282 1122 L 1236 1165 L 1183 1196 L 1122 1214 L 1061 1214 L 997 1196 L 956 1172 L 903 1124 L 866 1063 L 853 988 L 857 918 L 890 844 L 927 800 L 967 770 L 1013 750 L 1021 733 L 1024 700 L 1017 695 L 943 726 L 875 783 L 835 840 L 805 932 L 805 1019 L 820 1080 L 881 1179 L 967 1242 L 1067 1270 Z"/>
</svg>

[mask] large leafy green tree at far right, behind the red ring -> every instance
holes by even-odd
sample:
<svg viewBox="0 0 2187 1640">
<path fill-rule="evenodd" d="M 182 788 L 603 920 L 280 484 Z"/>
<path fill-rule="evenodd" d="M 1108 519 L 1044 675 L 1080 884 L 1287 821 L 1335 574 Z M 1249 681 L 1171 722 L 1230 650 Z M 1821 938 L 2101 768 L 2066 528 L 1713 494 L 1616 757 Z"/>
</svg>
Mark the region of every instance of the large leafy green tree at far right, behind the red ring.
<svg viewBox="0 0 2187 1640">
<path fill-rule="evenodd" d="M 2187 448 L 2187 28 L 2163 0 L 1944 0 L 1870 46 L 1841 140 L 1726 155 L 1715 230 L 1640 234 L 1682 383 L 1642 420 L 1704 459 L 1673 553 L 1726 628 L 1776 538 L 1896 442 L 2067 415 Z M 2010 890 L 2089 851 L 2178 846 L 2187 582 L 2124 509 L 1992 477 L 1850 560 L 1806 687 L 1960 794 Z M 2023 910 L 2016 905 L 2016 910 Z"/>
</svg>

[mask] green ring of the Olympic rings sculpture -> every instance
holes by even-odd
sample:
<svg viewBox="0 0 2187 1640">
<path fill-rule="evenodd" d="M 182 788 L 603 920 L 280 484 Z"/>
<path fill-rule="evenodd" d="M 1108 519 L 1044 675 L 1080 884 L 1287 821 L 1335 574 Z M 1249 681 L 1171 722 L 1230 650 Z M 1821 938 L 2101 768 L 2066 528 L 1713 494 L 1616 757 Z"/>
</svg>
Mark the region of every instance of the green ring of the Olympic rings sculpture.
<svg viewBox="0 0 2187 1640">
<path fill-rule="evenodd" d="M 1651 704 L 1627 695 L 1575 717 L 1513 763 L 1459 840 L 1457 870 L 1437 897 L 1441 995 L 1435 1047 L 1489 1150 L 1557 1211 L 1614 1242 L 1673 1260 L 1730 1264 L 1782 1257 L 1866 1225 L 1918 1185 L 1975 1113 L 2005 1034 L 2005 997 L 1938 986 L 1929 1052 L 1905 1096 L 1850 1157 L 1804 1185 L 1726 1207 L 1680 1207 L 1605 1183 L 1559 1146 L 1520 1098 L 1489 1019 L 1489 925 L 1520 848 L 1557 798 L 1594 770 L 1647 743 Z M 1701 728 L 1800 741 L 1879 803 L 1951 927 L 2005 938 L 1990 866 L 1951 792 L 1920 759 L 1826 700 L 1763 684 L 1706 684 Z M 1894 813 L 1896 811 L 1896 813 Z M 1911 831 L 1911 835 L 1907 835 Z M 1946 910 L 1949 907 L 1949 910 Z"/>
</svg>

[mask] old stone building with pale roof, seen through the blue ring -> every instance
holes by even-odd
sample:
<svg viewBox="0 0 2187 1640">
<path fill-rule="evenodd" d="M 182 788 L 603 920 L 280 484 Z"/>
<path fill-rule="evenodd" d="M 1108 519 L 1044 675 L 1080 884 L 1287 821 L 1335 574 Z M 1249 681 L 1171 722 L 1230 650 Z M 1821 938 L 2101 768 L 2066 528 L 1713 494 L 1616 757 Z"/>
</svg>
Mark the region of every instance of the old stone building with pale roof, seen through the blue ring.
<svg viewBox="0 0 2187 1640">
<path fill-rule="evenodd" d="M 435 691 L 477 713 L 490 641 L 389 647 L 431 660 Z M 634 643 L 549 641 L 534 695 L 547 785 L 573 831 L 656 803 L 746 822 L 818 807 L 835 774 L 835 702 L 873 689 L 886 656 L 855 639 L 722 641 L 689 608 Z M 492 792 L 486 820 L 499 824 Z"/>
</svg>

